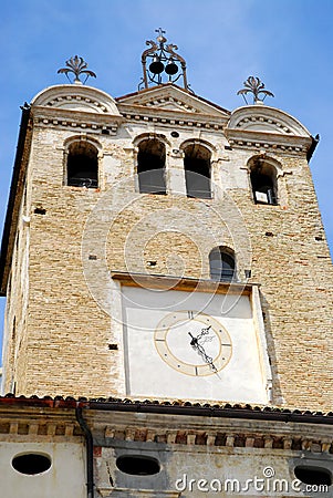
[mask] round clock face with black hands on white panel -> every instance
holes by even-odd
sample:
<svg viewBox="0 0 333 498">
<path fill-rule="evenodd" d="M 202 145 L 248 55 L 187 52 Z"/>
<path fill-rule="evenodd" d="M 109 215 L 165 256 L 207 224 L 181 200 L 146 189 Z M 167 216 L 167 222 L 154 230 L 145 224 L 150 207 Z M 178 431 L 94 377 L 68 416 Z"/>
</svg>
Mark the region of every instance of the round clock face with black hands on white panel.
<svg viewBox="0 0 333 498">
<path fill-rule="evenodd" d="M 196 311 L 174 311 L 159 321 L 154 334 L 155 347 L 170 367 L 192 375 L 214 375 L 231 357 L 231 340 L 212 317 Z"/>
</svg>

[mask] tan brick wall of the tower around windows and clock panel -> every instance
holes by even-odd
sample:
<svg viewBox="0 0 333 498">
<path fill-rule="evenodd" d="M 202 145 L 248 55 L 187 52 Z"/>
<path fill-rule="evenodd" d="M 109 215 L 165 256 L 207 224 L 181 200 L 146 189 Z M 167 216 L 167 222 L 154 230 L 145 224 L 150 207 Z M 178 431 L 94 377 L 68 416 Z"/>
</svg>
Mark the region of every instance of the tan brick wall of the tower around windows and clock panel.
<svg viewBox="0 0 333 498">
<path fill-rule="evenodd" d="M 45 120 L 55 111 L 56 121 Z M 260 283 L 273 403 L 331 409 L 332 266 L 304 151 L 231 148 L 221 126 L 177 127 L 131 116 L 108 135 L 80 125 L 77 132 L 61 124 L 59 113 L 33 108 L 30 222 L 20 218 L 18 226 L 22 246 L 13 258 L 7 318 L 8 330 L 15 315 L 21 332 L 17 346 L 7 333 L 4 391 L 13 377 L 18 394 L 124 396 L 122 328 L 113 317 L 108 271 L 209 279 L 209 251 L 228 246 L 240 282 L 251 269 L 250 282 Z M 74 118 L 83 120 L 80 111 Z M 170 135 L 175 129 L 178 137 Z M 165 196 L 137 191 L 136 143 L 145 133 L 163 135 L 167 144 Z M 64 185 L 65 144 L 75 136 L 97 144 L 97 189 Z M 194 138 L 211 144 L 212 199 L 184 194 L 181 144 Z M 278 206 L 253 203 L 248 163 L 258 154 L 279 165 Z M 118 349 L 110 350 L 111 343 Z"/>
</svg>

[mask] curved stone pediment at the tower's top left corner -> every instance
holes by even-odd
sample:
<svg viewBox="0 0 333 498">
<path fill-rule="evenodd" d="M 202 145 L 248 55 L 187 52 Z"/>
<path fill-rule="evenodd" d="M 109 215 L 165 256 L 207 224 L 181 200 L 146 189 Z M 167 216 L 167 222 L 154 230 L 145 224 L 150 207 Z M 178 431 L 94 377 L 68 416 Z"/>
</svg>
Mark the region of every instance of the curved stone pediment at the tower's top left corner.
<svg viewBox="0 0 333 498">
<path fill-rule="evenodd" d="M 115 101 L 93 86 L 79 84 L 54 85 L 40 92 L 31 102 L 51 108 L 121 115 Z"/>
</svg>

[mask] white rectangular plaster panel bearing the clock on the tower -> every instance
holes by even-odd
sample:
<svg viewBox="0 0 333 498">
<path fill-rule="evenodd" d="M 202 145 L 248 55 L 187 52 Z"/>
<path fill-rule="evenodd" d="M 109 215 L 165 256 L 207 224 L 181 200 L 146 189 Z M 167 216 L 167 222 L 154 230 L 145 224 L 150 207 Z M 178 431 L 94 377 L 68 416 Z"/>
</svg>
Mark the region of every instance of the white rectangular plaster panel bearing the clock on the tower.
<svg viewBox="0 0 333 498">
<path fill-rule="evenodd" d="M 268 402 L 249 295 L 136 287 L 122 295 L 128 395 Z"/>
</svg>

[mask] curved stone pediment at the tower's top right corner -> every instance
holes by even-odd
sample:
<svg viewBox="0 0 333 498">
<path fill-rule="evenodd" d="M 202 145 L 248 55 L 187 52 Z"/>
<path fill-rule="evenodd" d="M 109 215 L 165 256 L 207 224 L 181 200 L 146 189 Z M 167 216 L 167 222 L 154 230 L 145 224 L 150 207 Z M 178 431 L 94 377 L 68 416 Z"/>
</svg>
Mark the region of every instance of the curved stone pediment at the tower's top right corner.
<svg viewBox="0 0 333 498">
<path fill-rule="evenodd" d="M 310 137 L 310 132 L 290 114 L 267 105 L 247 105 L 231 113 L 228 129 Z"/>
</svg>

